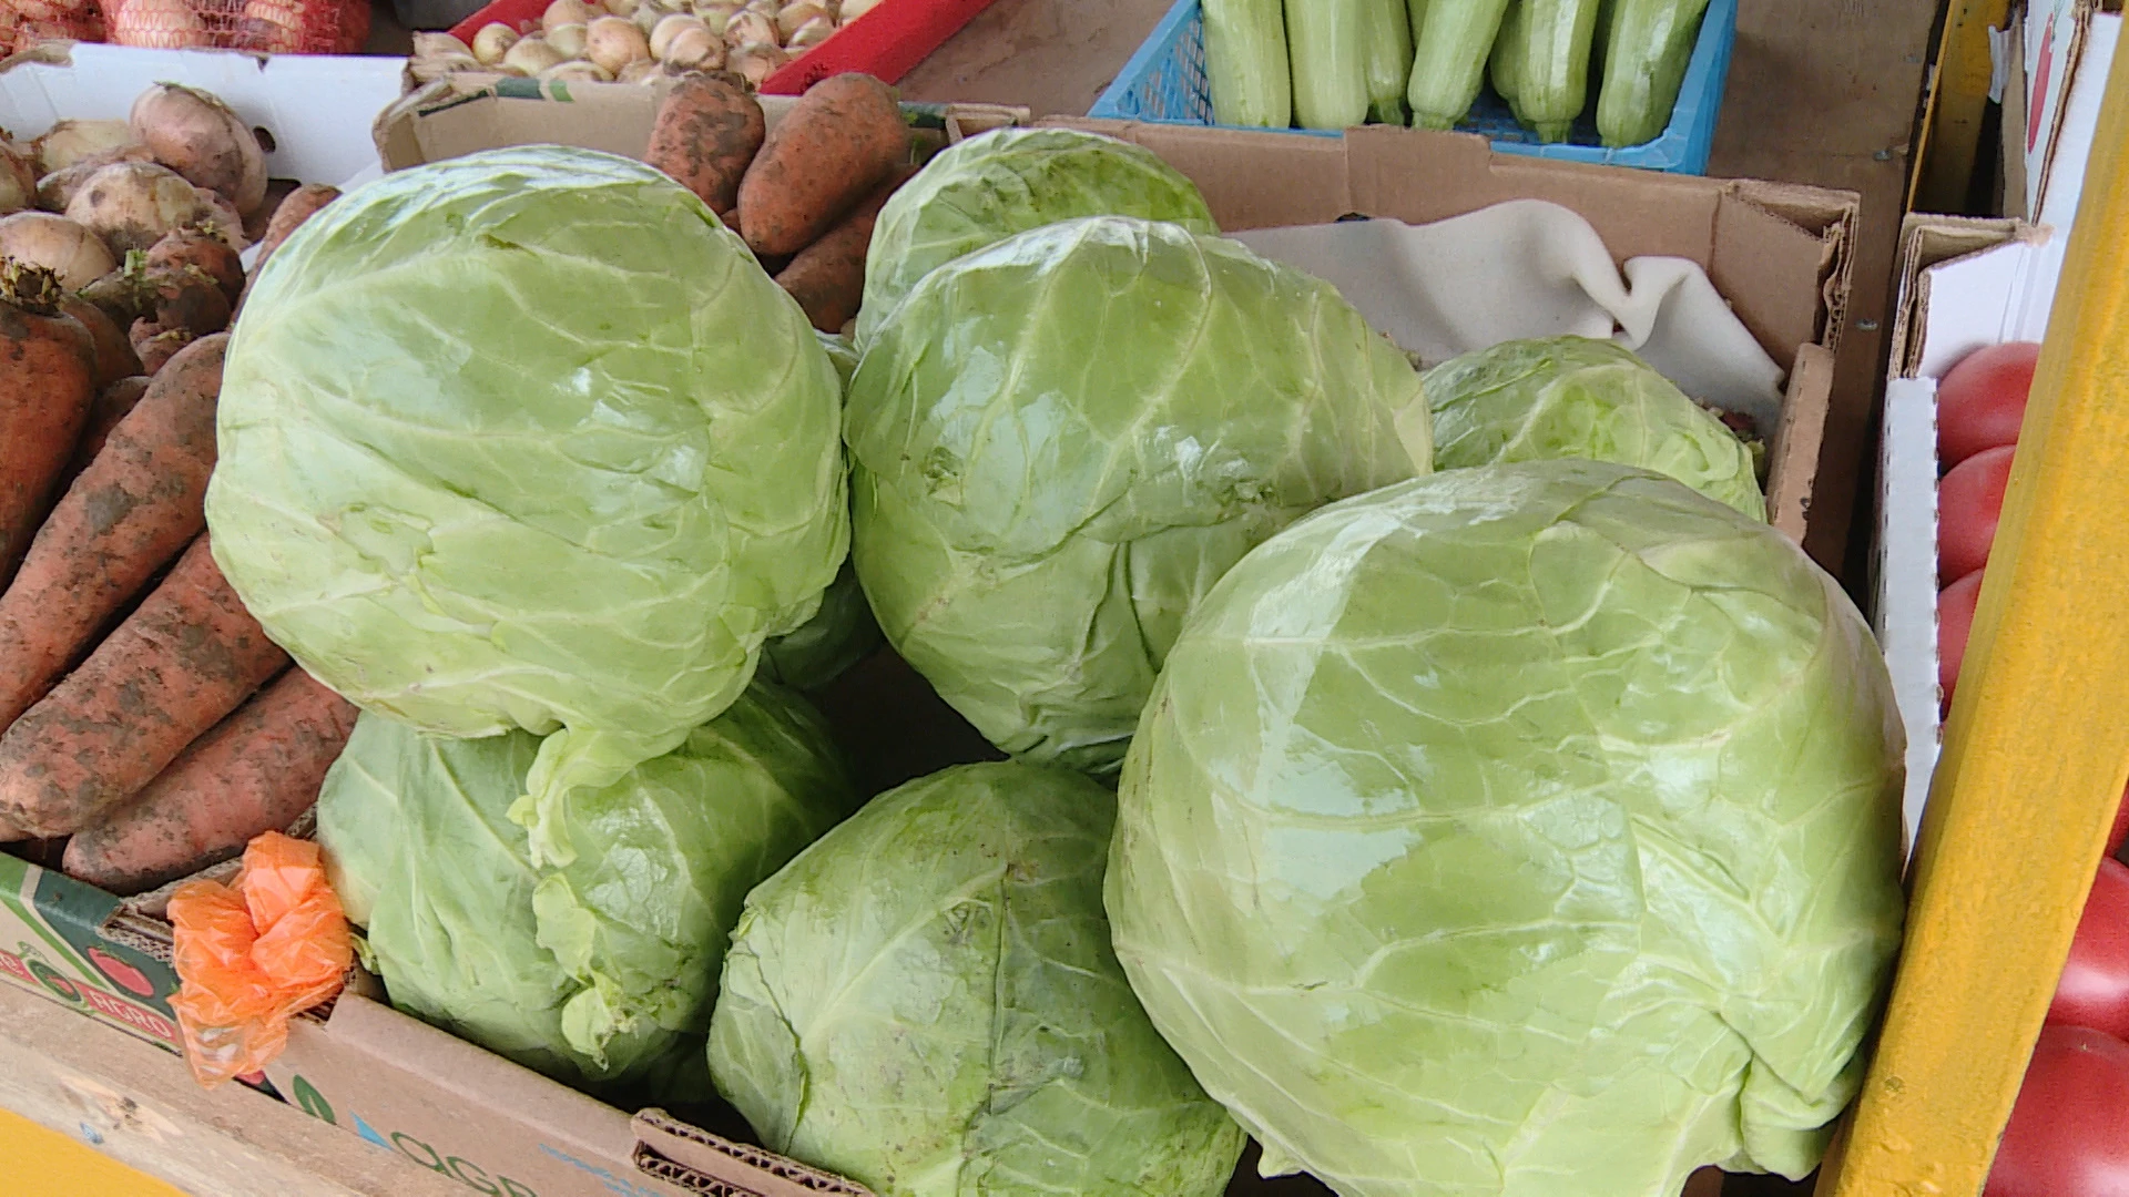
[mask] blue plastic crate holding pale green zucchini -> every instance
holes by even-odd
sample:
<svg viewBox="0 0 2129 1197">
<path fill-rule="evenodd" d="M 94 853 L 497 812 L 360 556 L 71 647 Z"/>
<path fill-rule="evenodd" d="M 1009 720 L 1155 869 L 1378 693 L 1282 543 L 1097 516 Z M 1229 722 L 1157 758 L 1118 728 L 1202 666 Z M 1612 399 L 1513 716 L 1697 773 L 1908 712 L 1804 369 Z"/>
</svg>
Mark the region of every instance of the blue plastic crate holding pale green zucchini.
<svg viewBox="0 0 2129 1197">
<path fill-rule="evenodd" d="M 1710 0 L 1701 19 L 1701 36 L 1693 45 L 1686 81 L 1678 89 L 1678 106 L 1663 136 L 1648 145 L 1605 149 L 1597 138 L 1597 87 L 1590 102 L 1563 145 L 1541 145 L 1531 130 L 1516 124 L 1507 104 L 1480 92 L 1478 104 L 1458 128 L 1492 138 L 1503 153 L 1529 153 L 1565 162 L 1599 162 L 1607 166 L 1639 166 L 1671 175 L 1705 175 L 1707 155 L 1716 145 L 1716 117 L 1722 115 L 1722 85 L 1729 79 L 1731 47 L 1737 43 L 1737 0 Z M 1211 126 L 1211 83 L 1205 79 L 1205 21 L 1199 0 L 1177 0 L 1160 19 L 1139 53 L 1130 55 L 1116 83 L 1101 94 L 1090 117 L 1118 121 L 1150 121 L 1169 126 Z M 1258 130 L 1262 132 L 1262 130 Z M 1311 136 L 1343 136 L 1318 130 L 1286 130 Z"/>
</svg>

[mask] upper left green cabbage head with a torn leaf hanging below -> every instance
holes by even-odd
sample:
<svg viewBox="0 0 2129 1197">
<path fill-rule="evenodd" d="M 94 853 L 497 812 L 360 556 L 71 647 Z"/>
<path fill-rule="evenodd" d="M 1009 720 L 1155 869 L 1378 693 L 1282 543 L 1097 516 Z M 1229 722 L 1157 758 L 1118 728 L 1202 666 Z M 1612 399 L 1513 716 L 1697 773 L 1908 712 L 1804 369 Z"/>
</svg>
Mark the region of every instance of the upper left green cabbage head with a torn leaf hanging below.
<svg viewBox="0 0 2129 1197">
<path fill-rule="evenodd" d="M 230 343 L 215 560 L 368 711 L 541 745 L 568 784 L 679 743 L 847 545 L 835 366 L 686 187 L 494 149 L 370 183 L 260 273 Z"/>
</svg>

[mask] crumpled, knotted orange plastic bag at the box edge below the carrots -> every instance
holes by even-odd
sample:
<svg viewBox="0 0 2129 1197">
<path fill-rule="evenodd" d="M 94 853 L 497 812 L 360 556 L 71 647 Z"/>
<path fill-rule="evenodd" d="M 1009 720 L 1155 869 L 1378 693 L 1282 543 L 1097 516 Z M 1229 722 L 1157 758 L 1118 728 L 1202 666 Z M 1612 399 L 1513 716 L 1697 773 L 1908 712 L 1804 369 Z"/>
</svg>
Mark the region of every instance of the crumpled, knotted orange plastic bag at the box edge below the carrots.
<svg viewBox="0 0 2129 1197">
<path fill-rule="evenodd" d="M 207 1088 L 258 1071 L 287 1046 L 287 1020 L 341 993 L 353 939 L 317 843 L 268 831 L 245 848 L 234 886 L 170 895 L 177 980 L 170 1010 L 185 1063 Z"/>
</svg>

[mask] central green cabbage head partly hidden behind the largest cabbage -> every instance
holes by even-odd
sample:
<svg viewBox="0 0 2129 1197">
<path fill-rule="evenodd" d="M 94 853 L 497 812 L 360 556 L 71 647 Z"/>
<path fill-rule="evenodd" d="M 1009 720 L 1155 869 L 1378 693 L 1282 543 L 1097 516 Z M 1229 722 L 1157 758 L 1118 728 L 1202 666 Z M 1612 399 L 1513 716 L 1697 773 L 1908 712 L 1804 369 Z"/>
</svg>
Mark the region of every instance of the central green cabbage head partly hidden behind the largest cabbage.
<svg viewBox="0 0 2129 1197">
<path fill-rule="evenodd" d="M 867 347 L 858 579 L 992 743 L 1113 773 L 1199 596 L 1307 511 L 1424 473 L 1426 426 L 1412 364 L 1328 283 L 1173 224 L 1052 224 L 933 270 Z"/>
</svg>

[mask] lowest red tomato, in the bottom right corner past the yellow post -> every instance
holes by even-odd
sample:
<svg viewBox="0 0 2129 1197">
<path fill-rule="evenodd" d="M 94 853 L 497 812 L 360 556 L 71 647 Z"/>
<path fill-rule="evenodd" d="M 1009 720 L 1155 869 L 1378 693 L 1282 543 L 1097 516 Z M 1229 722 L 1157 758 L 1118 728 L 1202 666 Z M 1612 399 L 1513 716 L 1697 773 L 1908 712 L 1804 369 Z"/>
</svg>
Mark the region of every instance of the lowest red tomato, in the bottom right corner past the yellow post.
<svg viewBox="0 0 2129 1197">
<path fill-rule="evenodd" d="M 2046 1027 L 1982 1197 L 2129 1197 L 2129 1044 Z"/>
</svg>

